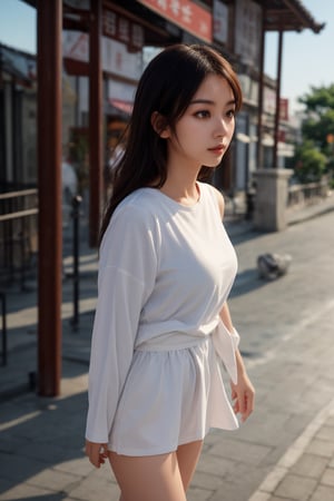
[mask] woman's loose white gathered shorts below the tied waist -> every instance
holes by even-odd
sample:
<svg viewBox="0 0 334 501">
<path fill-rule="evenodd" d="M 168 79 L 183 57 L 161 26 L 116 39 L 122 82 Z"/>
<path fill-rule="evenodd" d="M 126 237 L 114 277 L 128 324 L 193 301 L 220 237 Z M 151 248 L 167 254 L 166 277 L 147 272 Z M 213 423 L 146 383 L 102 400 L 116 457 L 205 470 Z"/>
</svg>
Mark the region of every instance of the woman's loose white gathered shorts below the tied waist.
<svg viewBox="0 0 334 501">
<path fill-rule="evenodd" d="M 180 350 L 135 351 L 108 449 L 155 455 L 203 440 L 210 428 L 235 430 L 212 336 Z"/>
</svg>

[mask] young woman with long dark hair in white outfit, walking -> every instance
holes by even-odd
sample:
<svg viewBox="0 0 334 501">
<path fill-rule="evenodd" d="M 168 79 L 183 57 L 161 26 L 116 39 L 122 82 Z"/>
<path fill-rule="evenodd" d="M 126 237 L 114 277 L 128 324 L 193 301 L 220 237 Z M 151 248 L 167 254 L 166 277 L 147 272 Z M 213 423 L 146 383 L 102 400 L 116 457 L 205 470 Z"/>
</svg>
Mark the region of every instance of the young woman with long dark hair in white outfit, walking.
<svg viewBox="0 0 334 501">
<path fill-rule="evenodd" d="M 101 228 L 86 432 L 121 501 L 185 501 L 209 428 L 236 429 L 235 413 L 253 411 L 226 303 L 237 265 L 224 199 L 200 181 L 240 105 L 232 67 L 205 46 L 165 49 L 138 85 Z"/>
</svg>

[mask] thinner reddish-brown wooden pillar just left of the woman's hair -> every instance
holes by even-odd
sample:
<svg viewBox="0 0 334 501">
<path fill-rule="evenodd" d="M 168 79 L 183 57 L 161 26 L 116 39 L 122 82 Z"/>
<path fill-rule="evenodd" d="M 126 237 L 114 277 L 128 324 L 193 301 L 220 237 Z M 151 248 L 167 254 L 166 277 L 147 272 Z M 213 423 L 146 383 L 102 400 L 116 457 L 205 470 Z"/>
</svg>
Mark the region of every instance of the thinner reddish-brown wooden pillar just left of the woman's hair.
<svg viewBox="0 0 334 501">
<path fill-rule="evenodd" d="M 104 193 L 102 2 L 91 2 L 89 32 L 89 244 L 98 245 Z"/>
</svg>

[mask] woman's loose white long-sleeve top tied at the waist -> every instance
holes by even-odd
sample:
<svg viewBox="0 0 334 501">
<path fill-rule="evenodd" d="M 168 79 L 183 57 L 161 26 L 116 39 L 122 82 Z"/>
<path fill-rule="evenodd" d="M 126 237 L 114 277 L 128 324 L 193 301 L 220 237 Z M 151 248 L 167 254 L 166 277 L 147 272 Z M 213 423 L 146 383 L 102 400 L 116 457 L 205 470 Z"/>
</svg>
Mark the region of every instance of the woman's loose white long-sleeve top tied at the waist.
<svg viewBox="0 0 334 501">
<path fill-rule="evenodd" d="M 198 187 L 200 198 L 190 207 L 158 189 L 138 189 L 119 204 L 106 230 L 89 369 L 86 438 L 92 442 L 110 438 L 135 351 L 194 346 L 214 333 L 217 353 L 236 379 L 238 340 L 219 321 L 236 255 L 215 188 Z M 222 426 L 235 421 L 223 416 Z"/>
</svg>

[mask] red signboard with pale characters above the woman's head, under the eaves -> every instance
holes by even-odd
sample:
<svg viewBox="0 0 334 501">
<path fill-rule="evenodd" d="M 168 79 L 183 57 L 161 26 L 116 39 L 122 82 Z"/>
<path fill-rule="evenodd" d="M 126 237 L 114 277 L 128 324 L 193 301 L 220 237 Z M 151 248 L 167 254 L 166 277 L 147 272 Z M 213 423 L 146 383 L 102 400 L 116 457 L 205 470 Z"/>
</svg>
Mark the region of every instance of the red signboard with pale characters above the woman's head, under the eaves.
<svg viewBox="0 0 334 501">
<path fill-rule="evenodd" d="M 206 42 L 213 41 L 213 17 L 197 3 L 189 0 L 139 0 L 139 2 L 195 37 Z"/>
</svg>

